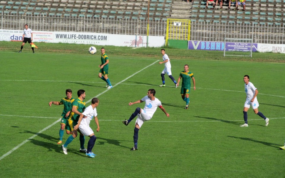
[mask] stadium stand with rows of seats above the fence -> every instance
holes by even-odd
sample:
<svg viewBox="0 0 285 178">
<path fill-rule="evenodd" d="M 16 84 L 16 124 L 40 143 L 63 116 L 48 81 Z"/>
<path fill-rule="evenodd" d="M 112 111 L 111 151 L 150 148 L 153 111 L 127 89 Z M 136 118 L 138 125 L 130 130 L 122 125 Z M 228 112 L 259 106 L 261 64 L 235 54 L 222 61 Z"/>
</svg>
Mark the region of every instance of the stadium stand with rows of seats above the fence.
<svg viewBox="0 0 285 178">
<path fill-rule="evenodd" d="M 205 8 L 206 0 L 187 3 L 181 0 L 150 0 L 149 17 L 166 20 L 167 18 L 191 19 L 196 22 L 229 23 L 285 23 L 285 0 L 247 0 L 246 11 L 243 7 L 232 5 L 228 10 L 228 1 L 222 8 L 219 5 Z M 210 9 L 213 8 L 213 9 Z M 101 17 L 110 19 L 148 18 L 148 0 L 26 0 L 0 1 L 0 10 L 4 14 L 31 15 L 35 12 L 57 17 Z M 50 14 L 50 12 L 52 14 Z"/>
</svg>

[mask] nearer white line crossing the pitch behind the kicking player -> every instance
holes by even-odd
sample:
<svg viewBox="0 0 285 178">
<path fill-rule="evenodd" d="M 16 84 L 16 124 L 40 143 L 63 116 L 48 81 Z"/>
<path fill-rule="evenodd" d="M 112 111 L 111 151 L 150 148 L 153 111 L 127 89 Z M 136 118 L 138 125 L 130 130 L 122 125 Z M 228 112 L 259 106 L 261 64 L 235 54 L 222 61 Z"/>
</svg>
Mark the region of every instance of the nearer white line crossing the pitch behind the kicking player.
<svg viewBox="0 0 285 178">
<path fill-rule="evenodd" d="M 0 114 L 0 116 L 9 116 L 9 117 L 34 117 L 34 118 L 44 118 L 44 119 L 57 119 L 57 117 L 36 117 L 36 116 L 20 116 L 20 115 L 2 115 Z M 270 120 L 272 119 L 285 119 L 285 117 L 273 117 L 273 118 L 269 118 Z M 121 122 L 121 120 L 102 120 L 99 119 L 100 121 L 110 121 L 110 122 Z M 264 119 L 248 119 L 248 120 L 264 120 Z M 240 120 L 149 120 L 148 122 L 222 122 L 222 121 L 244 121 L 243 119 Z M 56 122 L 59 122 L 59 120 L 57 120 Z M 43 130 L 44 131 L 44 130 Z M 40 132 L 39 132 L 40 133 Z"/>
</svg>

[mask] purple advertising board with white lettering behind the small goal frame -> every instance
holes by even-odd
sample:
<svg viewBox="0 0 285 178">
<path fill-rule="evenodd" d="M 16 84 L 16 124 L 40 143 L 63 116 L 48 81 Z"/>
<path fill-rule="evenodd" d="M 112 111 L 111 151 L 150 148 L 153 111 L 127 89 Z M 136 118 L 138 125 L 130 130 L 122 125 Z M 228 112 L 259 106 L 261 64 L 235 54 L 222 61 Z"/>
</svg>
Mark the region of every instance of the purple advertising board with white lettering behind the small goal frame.
<svg viewBox="0 0 285 178">
<path fill-rule="evenodd" d="M 189 50 L 212 50 L 212 51 L 250 51 L 250 43 L 242 42 L 208 42 L 208 41 L 188 41 Z M 257 43 L 252 43 L 252 52 L 257 52 Z"/>
</svg>

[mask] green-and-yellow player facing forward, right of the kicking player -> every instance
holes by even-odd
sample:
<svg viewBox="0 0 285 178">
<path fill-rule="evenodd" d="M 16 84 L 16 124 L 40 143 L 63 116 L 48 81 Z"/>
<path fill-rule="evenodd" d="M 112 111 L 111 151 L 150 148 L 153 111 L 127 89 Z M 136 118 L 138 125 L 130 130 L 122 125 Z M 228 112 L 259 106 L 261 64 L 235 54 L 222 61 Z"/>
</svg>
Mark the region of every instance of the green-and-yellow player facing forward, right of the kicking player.
<svg viewBox="0 0 285 178">
<path fill-rule="evenodd" d="M 189 66 L 186 64 L 184 65 L 184 71 L 180 72 L 179 78 L 177 80 L 177 87 L 179 86 L 180 79 L 182 78 L 182 86 L 181 86 L 181 97 L 184 101 L 186 101 L 185 109 L 188 109 L 189 106 L 189 94 L 191 88 L 191 79 L 193 80 L 194 90 L 196 90 L 194 74 L 190 72 Z"/>
</svg>

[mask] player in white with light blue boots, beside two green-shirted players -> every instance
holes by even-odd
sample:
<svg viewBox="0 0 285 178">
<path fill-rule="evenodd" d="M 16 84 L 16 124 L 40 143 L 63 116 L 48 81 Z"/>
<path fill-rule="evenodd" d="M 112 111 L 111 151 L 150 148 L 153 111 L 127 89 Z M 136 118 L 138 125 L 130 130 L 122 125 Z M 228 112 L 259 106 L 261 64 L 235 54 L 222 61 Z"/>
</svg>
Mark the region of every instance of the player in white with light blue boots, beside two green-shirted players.
<svg viewBox="0 0 285 178">
<path fill-rule="evenodd" d="M 91 158 L 94 158 L 96 156 L 92 152 L 92 148 L 94 147 L 94 144 L 96 141 L 96 136 L 94 135 L 94 132 L 90 128 L 89 124 L 90 124 L 90 121 L 92 120 L 92 118 L 94 116 L 95 123 L 97 125 L 96 131 L 99 132 L 100 127 L 99 127 L 99 122 L 98 122 L 98 118 L 97 118 L 97 111 L 96 111 L 96 107 L 98 106 L 98 104 L 99 104 L 98 98 L 92 98 L 91 105 L 88 106 L 84 110 L 84 112 L 80 115 L 80 117 L 78 119 L 77 125 L 74 126 L 75 130 L 77 130 L 79 128 L 80 132 L 83 135 L 90 137 L 90 140 L 89 140 L 88 146 L 87 146 L 86 155 L 91 157 Z"/>
</svg>

